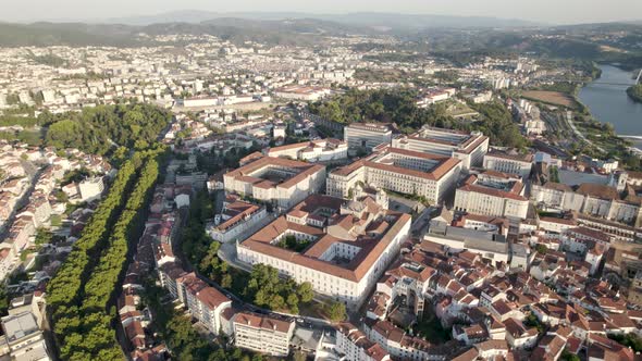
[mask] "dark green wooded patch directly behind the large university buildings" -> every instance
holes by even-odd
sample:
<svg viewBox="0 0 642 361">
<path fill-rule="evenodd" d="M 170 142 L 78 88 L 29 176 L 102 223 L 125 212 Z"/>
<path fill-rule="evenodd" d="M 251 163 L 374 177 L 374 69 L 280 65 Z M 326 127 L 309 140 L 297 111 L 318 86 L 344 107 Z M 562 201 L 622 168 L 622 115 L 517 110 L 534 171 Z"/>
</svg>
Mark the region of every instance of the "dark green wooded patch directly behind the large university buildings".
<svg viewBox="0 0 642 361">
<path fill-rule="evenodd" d="M 394 122 L 403 133 L 424 125 L 459 130 L 481 130 L 494 146 L 522 148 L 527 140 L 519 132 L 508 109 L 498 101 L 469 104 L 481 114 L 479 122 L 466 122 L 447 115 L 443 104 L 428 109 L 416 104 L 417 92 L 402 90 L 348 90 L 330 100 L 310 104 L 310 111 L 324 119 L 349 124 L 353 122 Z"/>
</svg>

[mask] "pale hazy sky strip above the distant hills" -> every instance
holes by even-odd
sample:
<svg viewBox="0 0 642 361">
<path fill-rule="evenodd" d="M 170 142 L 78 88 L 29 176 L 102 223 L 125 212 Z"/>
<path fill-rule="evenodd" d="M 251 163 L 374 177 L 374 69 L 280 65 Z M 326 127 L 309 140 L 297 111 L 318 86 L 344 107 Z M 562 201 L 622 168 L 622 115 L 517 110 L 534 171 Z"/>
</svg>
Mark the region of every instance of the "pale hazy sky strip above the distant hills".
<svg viewBox="0 0 642 361">
<path fill-rule="evenodd" d="M 642 0 L 1 0 L 0 20 L 100 20 L 177 10 L 356 11 L 496 16 L 545 23 L 642 20 Z"/>
</svg>

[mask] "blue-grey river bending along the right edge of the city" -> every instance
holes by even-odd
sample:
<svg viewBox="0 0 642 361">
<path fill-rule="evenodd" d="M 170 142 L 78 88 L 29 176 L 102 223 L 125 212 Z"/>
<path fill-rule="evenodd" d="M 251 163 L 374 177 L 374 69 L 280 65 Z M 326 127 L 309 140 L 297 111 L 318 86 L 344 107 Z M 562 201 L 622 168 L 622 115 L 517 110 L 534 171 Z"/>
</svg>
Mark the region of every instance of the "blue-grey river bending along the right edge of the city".
<svg viewBox="0 0 642 361">
<path fill-rule="evenodd" d="M 613 124 L 618 135 L 642 137 L 642 103 L 627 96 L 627 88 L 634 82 L 633 74 L 613 65 L 600 69 L 602 76 L 580 90 L 580 101 L 597 121 Z M 642 149 L 642 139 L 632 141 Z"/>
</svg>

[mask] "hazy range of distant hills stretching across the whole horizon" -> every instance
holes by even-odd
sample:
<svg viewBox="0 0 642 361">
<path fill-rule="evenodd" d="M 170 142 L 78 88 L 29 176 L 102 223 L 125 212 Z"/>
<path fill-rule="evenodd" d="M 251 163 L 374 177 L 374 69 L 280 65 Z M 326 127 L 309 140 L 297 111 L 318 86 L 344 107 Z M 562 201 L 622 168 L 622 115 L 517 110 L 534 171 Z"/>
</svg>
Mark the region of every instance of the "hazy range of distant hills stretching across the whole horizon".
<svg viewBox="0 0 642 361">
<path fill-rule="evenodd" d="M 237 45 L 254 40 L 271 45 L 310 46 L 320 43 L 326 36 L 393 35 L 416 46 L 421 45 L 420 50 L 431 52 L 535 52 L 551 57 L 601 60 L 604 59 L 603 47 L 626 49 L 631 53 L 629 55 L 637 55 L 639 45 L 642 43 L 642 26 L 634 23 L 535 26 L 536 24 L 523 21 L 492 17 L 387 13 L 343 15 L 239 13 L 237 15 L 233 17 L 209 12 L 186 11 L 111 20 L 114 23 L 0 23 L 0 46 L 138 47 L 153 45 L 152 40 L 139 36 L 140 34 L 151 36 L 208 34 Z M 307 15 L 312 17 L 305 17 Z M 145 24 L 147 22 L 153 23 Z M 593 40 L 594 35 L 614 30 L 629 34 L 622 38 L 615 38 L 613 41 Z M 539 35 L 556 37 L 541 38 Z M 615 59 L 610 57 L 609 60 Z M 627 60 L 627 62 L 634 66 L 633 62 L 637 59 Z"/>
</svg>

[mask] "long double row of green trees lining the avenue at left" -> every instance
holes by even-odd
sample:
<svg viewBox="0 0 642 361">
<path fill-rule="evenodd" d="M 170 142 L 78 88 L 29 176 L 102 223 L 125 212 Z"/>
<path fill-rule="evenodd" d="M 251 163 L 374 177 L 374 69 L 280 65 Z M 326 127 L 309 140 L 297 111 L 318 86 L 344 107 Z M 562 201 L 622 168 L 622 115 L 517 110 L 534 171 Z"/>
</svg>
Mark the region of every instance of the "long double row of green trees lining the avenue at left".
<svg viewBox="0 0 642 361">
<path fill-rule="evenodd" d="M 111 326 L 115 308 L 108 313 L 108 302 L 126 266 L 128 239 L 144 231 L 139 217 L 151 199 L 150 189 L 159 176 L 155 158 L 161 152 L 162 148 L 136 153 L 123 164 L 109 195 L 48 285 L 47 300 L 63 359 L 123 358 Z M 96 262 L 90 261 L 94 259 Z"/>
</svg>

